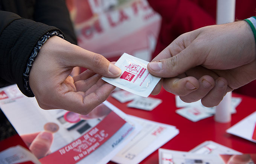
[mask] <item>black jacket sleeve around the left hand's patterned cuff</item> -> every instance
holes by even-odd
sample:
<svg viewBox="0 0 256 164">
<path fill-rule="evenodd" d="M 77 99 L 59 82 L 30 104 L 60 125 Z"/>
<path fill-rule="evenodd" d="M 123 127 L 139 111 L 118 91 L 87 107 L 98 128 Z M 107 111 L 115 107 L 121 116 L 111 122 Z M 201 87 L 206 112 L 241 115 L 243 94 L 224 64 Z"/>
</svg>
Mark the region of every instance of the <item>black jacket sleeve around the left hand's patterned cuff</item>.
<svg viewBox="0 0 256 164">
<path fill-rule="evenodd" d="M 0 11 L 0 86 L 17 83 L 25 94 L 23 73 L 38 40 L 58 28 L 12 12 Z"/>
</svg>

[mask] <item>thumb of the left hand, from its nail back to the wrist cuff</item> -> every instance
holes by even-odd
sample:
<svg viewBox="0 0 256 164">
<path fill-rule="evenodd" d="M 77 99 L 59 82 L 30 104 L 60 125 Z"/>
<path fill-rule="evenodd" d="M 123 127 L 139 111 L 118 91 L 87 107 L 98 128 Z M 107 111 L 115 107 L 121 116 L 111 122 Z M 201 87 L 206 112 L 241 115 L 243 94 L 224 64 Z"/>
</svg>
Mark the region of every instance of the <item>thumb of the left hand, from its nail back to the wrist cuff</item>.
<svg viewBox="0 0 256 164">
<path fill-rule="evenodd" d="M 121 74 L 121 70 L 102 55 L 73 45 L 60 37 L 50 37 L 39 53 L 37 60 L 41 58 L 39 61 L 42 64 L 47 63 L 47 67 L 61 66 L 61 68 L 70 69 L 79 66 L 109 78 L 115 78 Z"/>
</svg>

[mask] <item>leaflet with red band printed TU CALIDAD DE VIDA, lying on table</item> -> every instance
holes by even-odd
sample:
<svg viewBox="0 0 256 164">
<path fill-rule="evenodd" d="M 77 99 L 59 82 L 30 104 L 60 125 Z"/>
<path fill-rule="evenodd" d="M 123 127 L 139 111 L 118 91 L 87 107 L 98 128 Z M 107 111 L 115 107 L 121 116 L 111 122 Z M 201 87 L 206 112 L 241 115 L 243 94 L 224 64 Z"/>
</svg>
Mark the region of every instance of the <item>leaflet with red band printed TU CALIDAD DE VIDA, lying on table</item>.
<svg viewBox="0 0 256 164">
<path fill-rule="evenodd" d="M 51 153 L 40 158 L 41 163 L 56 160 L 68 164 L 104 164 L 110 161 L 139 132 L 139 125 L 136 128 L 131 125 L 136 123 L 129 121 L 125 113 L 108 101 L 102 105 L 108 111 L 106 115 L 71 123 L 64 118 L 66 110 L 41 109 L 36 99 L 23 95 L 17 85 L 0 90 L 0 107 L 21 138 L 23 134 L 44 131 L 44 125 L 49 122 L 58 125 L 58 131 L 53 134 Z"/>
</svg>

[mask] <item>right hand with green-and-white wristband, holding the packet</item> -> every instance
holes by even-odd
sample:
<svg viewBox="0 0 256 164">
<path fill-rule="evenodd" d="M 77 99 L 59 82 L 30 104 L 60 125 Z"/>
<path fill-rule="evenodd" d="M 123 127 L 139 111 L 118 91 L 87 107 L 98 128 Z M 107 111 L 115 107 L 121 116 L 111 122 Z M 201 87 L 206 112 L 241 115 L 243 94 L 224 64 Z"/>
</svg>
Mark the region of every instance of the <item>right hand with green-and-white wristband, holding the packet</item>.
<svg viewBox="0 0 256 164">
<path fill-rule="evenodd" d="M 256 46 L 245 21 L 203 27 L 182 34 L 148 64 L 163 77 L 166 91 L 206 107 L 256 79 Z M 152 94 L 159 92 L 159 85 Z"/>
</svg>

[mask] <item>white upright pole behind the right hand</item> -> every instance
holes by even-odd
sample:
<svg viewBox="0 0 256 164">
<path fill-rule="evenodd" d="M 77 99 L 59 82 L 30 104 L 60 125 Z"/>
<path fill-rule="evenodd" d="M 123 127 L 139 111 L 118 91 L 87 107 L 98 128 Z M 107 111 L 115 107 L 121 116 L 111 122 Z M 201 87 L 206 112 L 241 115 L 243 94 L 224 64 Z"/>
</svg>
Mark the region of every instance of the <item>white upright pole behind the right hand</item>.
<svg viewBox="0 0 256 164">
<path fill-rule="evenodd" d="M 235 21 L 235 0 L 217 0 L 216 24 L 225 24 Z M 231 121 L 232 92 L 228 92 L 216 106 L 215 121 L 227 123 Z"/>
</svg>

